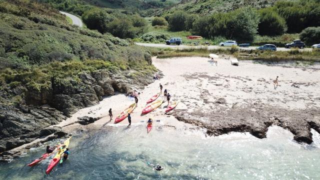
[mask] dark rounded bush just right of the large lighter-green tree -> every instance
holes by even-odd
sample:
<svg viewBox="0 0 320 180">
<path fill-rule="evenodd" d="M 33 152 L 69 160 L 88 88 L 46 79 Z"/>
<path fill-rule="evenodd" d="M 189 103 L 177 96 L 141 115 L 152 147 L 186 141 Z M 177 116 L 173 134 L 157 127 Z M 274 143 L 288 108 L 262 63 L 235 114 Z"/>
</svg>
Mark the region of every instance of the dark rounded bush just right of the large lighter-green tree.
<svg viewBox="0 0 320 180">
<path fill-rule="evenodd" d="M 277 12 L 265 8 L 259 10 L 259 14 L 258 32 L 260 35 L 281 35 L 286 31 L 285 20 Z"/>
</svg>

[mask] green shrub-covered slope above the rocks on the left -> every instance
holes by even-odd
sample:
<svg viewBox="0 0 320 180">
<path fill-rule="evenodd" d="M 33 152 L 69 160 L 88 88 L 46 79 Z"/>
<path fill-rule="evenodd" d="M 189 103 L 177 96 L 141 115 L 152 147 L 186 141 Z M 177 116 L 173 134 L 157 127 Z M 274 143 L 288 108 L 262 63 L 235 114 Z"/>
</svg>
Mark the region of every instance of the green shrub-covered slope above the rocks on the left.
<svg viewBox="0 0 320 180">
<path fill-rule="evenodd" d="M 71 26 L 64 15 L 42 3 L 1 1 L 0 24 L 0 90 L 21 84 L 40 91 L 50 87 L 53 76 L 69 83 L 78 81 L 80 73 L 99 69 L 155 70 L 145 49 Z"/>
</svg>

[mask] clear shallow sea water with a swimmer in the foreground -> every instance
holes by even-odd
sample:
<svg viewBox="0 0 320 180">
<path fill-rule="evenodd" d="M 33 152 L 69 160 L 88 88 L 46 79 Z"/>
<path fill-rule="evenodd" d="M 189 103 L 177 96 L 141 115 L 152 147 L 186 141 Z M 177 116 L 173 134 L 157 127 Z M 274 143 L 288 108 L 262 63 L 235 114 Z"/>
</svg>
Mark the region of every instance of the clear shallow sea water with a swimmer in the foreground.
<svg viewBox="0 0 320 180">
<path fill-rule="evenodd" d="M 235 132 L 205 137 L 171 127 L 149 134 L 144 125 L 106 127 L 76 132 L 68 160 L 49 175 L 49 159 L 25 166 L 42 154 L 42 146 L 0 163 L 0 179 L 319 179 L 320 135 L 312 133 L 315 142 L 306 145 L 277 126 L 264 139 Z M 154 171 L 147 162 L 164 169 Z"/>
</svg>

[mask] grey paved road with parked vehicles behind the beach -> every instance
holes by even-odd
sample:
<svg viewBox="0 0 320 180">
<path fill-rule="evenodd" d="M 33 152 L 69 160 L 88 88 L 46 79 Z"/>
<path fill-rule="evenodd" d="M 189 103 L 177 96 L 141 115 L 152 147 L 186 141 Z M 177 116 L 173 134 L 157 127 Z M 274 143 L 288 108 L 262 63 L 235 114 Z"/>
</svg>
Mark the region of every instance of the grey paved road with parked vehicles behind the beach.
<svg viewBox="0 0 320 180">
<path fill-rule="evenodd" d="M 207 49 L 218 49 L 218 48 L 229 48 L 229 47 L 221 47 L 219 45 L 208 45 L 208 46 L 203 46 L 203 45 L 198 45 L 198 46 L 190 46 L 190 45 L 166 45 L 166 44 L 156 44 L 156 43 L 142 43 L 142 42 L 136 42 L 137 45 L 142 45 L 142 46 L 147 46 L 147 47 L 169 47 L 169 48 L 179 48 L 179 49 L 187 49 L 187 48 L 207 48 Z M 252 50 L 255 49 L 256 46 L 250 46 L 250 47 L 239 47 L 240 49 L 243 50 Z M 276 48 L 278 51 L 288 51 L 290 49 L 284 48 L 284 47 L 277 47 Z M 311 51 L 311 48 L 304 48 L 304 49 L 299 49 L 303 51 Z"/>
</svg>

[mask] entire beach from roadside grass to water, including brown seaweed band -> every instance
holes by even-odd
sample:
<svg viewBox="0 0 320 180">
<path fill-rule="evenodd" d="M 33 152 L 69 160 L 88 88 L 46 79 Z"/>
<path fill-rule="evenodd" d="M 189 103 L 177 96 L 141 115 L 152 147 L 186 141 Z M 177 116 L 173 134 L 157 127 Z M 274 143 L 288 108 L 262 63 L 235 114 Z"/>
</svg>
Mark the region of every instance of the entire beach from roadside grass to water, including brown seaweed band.
<svg viewBox="0 0 320 180">
<path fill-rule="evenodd" d="M 208 134 L 219 135 L 229 131 L 249 131 L 257 137 L 264 137 L 265 132 L 263 131 L 266 131 L 269 125 L 274 124 L 287 128 L 302 138 L 311 136 L 310 127 L 307 127 L 309 122 L 295 120 L 296 122 L 293 123 L 290 114 L 293 118 L 300 118 L 297 117 L 298 114 L 309 113 L 309 109 L 320 107 L 320 94 L 318 93 L 320 83 L 316 78 L 320 77 L 319 66 L 267 65 L 251 61 L 240 61 L 239 66 L 233 66 L 224 58 L 218 59 L 216 66 L 208 60 L 203 57 L 167 59 L 153 57 L 153 64 L 163 72 L 164 77 L 155 80 L 144 89 L 137 89 L 141 94 L 138 97 L 137 107 L 131 113 L 132 125 L 145 123 L 149 117 L 152 117 L 153 120 L 159 121 L 155 121 L 155 124 L 191 127 L 189 124 L 179 122 L 177 120 L 179 119 L 195 124 L 197 127 L 219 129 L 218 131 L 211 129 L 207 131 Z M 279 86 L 274 88 L 273 79 L 277 75 Z M 164 101 L 156 110 L 141 115 L 146 100 L 160 91 L 159 83 L 163 85 L 163 90 L 167 89 L 171 94 L 171 100 L 178 100 L 179 104 L 173 111 L 165 114 L 164 109 L 167 102 Z M 159 98 L 164 99 L 163 95 Z M 95 127 L 127 125 L 127 118 L 118 124 L 114 124 L 114 118 L 133 102 L 132 98 L 124 94 L 105 97 L 98 105 L 80 109 L 72 117 L 61 122 L 59 126 L 66 130 L 71 127 L 75 128 L 78 126 L 77 123 L 74 123 L 77 117 L 84 115 L 102 117 L 91 124 Z M 108 116 L 109 108 L 112 108 L 113 112 L 111 121 Z M 303 110 L 306 111 L 303 112 Z M 285 113 L 281 114 L 282 112 Z M 297 114 L 293 114 L 294 112 Z M 312 116 L 317 126 L 319 112 L 313 112 L 315 113 L 314 118 L 311 114 L 304 114 L 304 118 Z M 272 115 L 272 113 L 279 116 Z M 239 117 L 232 116 L 232 114 L 239 115 Z M 285 115 L 288 115 L 286 118 L 291 120 L 281 121 Z M 235 122 L 232 122 L 230 119 L 232 117 L 240 119 L 234 119 Z"/>
</svg>

